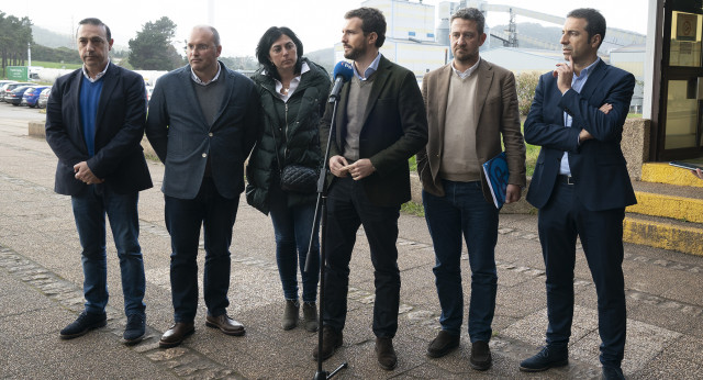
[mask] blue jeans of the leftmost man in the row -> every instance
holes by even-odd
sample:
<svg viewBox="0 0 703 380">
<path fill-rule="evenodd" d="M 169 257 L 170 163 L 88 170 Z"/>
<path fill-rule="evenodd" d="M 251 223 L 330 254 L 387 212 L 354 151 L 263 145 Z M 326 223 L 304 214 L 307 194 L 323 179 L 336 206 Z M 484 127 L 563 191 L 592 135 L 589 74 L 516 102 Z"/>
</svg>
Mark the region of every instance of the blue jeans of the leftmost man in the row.
<svg viewBox="0 0 703 380">
<path fill-rule="evenodd" d="M 80 238 L 86 311 L 103 313 L 108 304 L 108 257 L 105 214 L 120 259 L 125 315 L 144 314 L 146 278 L 140 247 L 138 192 L 118 194 L 103 185 L 90 185 L 71 197 L 74 219 Z"/>
</svg>

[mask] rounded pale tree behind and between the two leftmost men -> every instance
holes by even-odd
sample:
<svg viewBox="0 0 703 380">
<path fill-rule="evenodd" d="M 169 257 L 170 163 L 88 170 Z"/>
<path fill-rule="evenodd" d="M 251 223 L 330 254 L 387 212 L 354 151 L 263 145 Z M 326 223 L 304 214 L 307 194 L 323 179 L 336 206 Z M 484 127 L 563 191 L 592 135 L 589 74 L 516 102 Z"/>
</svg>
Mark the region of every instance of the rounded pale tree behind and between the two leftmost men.
<svg viewBox="0 0 703 380">
<path fill-rule="evenodd" d="M 129 60 L 137 70 L 172 70 L 183 64 L 174 47 L 176 24 L 167 16 L 144 24 L 136 37 L 130 40 Z"/>
</svg>

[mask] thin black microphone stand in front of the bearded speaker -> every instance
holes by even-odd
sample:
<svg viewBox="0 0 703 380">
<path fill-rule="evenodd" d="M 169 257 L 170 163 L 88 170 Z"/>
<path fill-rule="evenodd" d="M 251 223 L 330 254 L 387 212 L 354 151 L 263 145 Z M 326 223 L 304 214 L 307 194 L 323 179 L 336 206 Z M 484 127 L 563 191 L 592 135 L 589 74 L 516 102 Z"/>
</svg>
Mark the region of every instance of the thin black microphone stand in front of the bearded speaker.
<svg viewBox="0 0 703 380">
<path fill-rule="evenodd" d="M 322 369 L 322 321 L 323 321 L 323 311 L 325 306 L 325 260 L 327 258 L 326 255 L 326 231 L 327 231 L 327 186 L 326 186 L 326 175 L 330 170 L 330 147 L 332 146 L 332 136 L 334 135 L 334 122 L 337 114 L 337 104 L 339 101 L 338 94 L 330 96 L 330 103 L 334 103 L 332 109 L 332 121 L 330 122 L 330 135 L 327 136 L 327 147 L 325 149 L 325 158 L 323 160 L 322 170 L 320 170 L 320 178 L 317 179 L 317 203 L 315 204 L 315 219 L 312 224 L 312 232 L 310 234 L 310 245 L 308 246 L 308 256 L 305 259 L 305 271 L 310 271 L 310 261 L 312 255 L 312 242 L 315 237 L 315 226 L 317 222 L 320 222 L 321 230 L 321 239 L 320 239 L 320 326 L 317 328 L 317 371 L 315 372 L 315 377 L 313 380 L 322 380 L 322 379 L 331 379 L 333 376 L 337 375 L 342 369 L 348 367 L 348 364 L 345 361 L 339 367 L 337 367 L 334 371 L 327 372 Z M 322 215 L 322 219 L 320 217 Z"/>
</svg>

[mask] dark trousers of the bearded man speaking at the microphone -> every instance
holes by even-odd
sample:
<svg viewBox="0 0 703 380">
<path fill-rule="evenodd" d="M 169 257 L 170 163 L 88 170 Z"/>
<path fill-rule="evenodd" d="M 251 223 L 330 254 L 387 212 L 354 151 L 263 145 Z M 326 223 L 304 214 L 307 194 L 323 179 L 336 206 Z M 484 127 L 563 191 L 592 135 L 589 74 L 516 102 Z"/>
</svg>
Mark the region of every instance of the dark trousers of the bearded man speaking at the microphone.
<svg viewBox="0 0 703 380">
<path fill-rule="evenodd" d="M 400 304 L 400 270 L 395 248 L 399 216 L 400 205 L 373 205 L 366 197 L 362 183 L 349 177 L 335 179 L 327 197 L 324 325 L 335 331 L 344 328 L 349 260 L 356 233 L 364 225 L 371 249 L 376 286 L 373 334 L 378 337 L 395 336 Z"/>
</svg>

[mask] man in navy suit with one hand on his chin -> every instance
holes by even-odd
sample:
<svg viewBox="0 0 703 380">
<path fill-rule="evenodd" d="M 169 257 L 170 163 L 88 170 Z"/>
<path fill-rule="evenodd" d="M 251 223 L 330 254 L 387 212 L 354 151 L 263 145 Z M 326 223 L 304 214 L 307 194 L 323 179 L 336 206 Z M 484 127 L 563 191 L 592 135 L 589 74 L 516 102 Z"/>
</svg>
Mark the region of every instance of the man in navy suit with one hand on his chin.
<svg viewBox="0 0 703 380">
<path fill-rule="evenodd" d="M 598 294 L 603 377 L 623 378 L 623 219 L 636 199 L 620 143 L 635 78 L 598 57 L 604 36 L 598 11 L 567 15 L 568 63 L 539 78 L 525 121 L 525 141 L 542 146 L 527 201 L 539 209 L 549 326 L 547 345 L 520 364 L 523 371 L 568 365 L 579 236 Z"/>
</svg>

